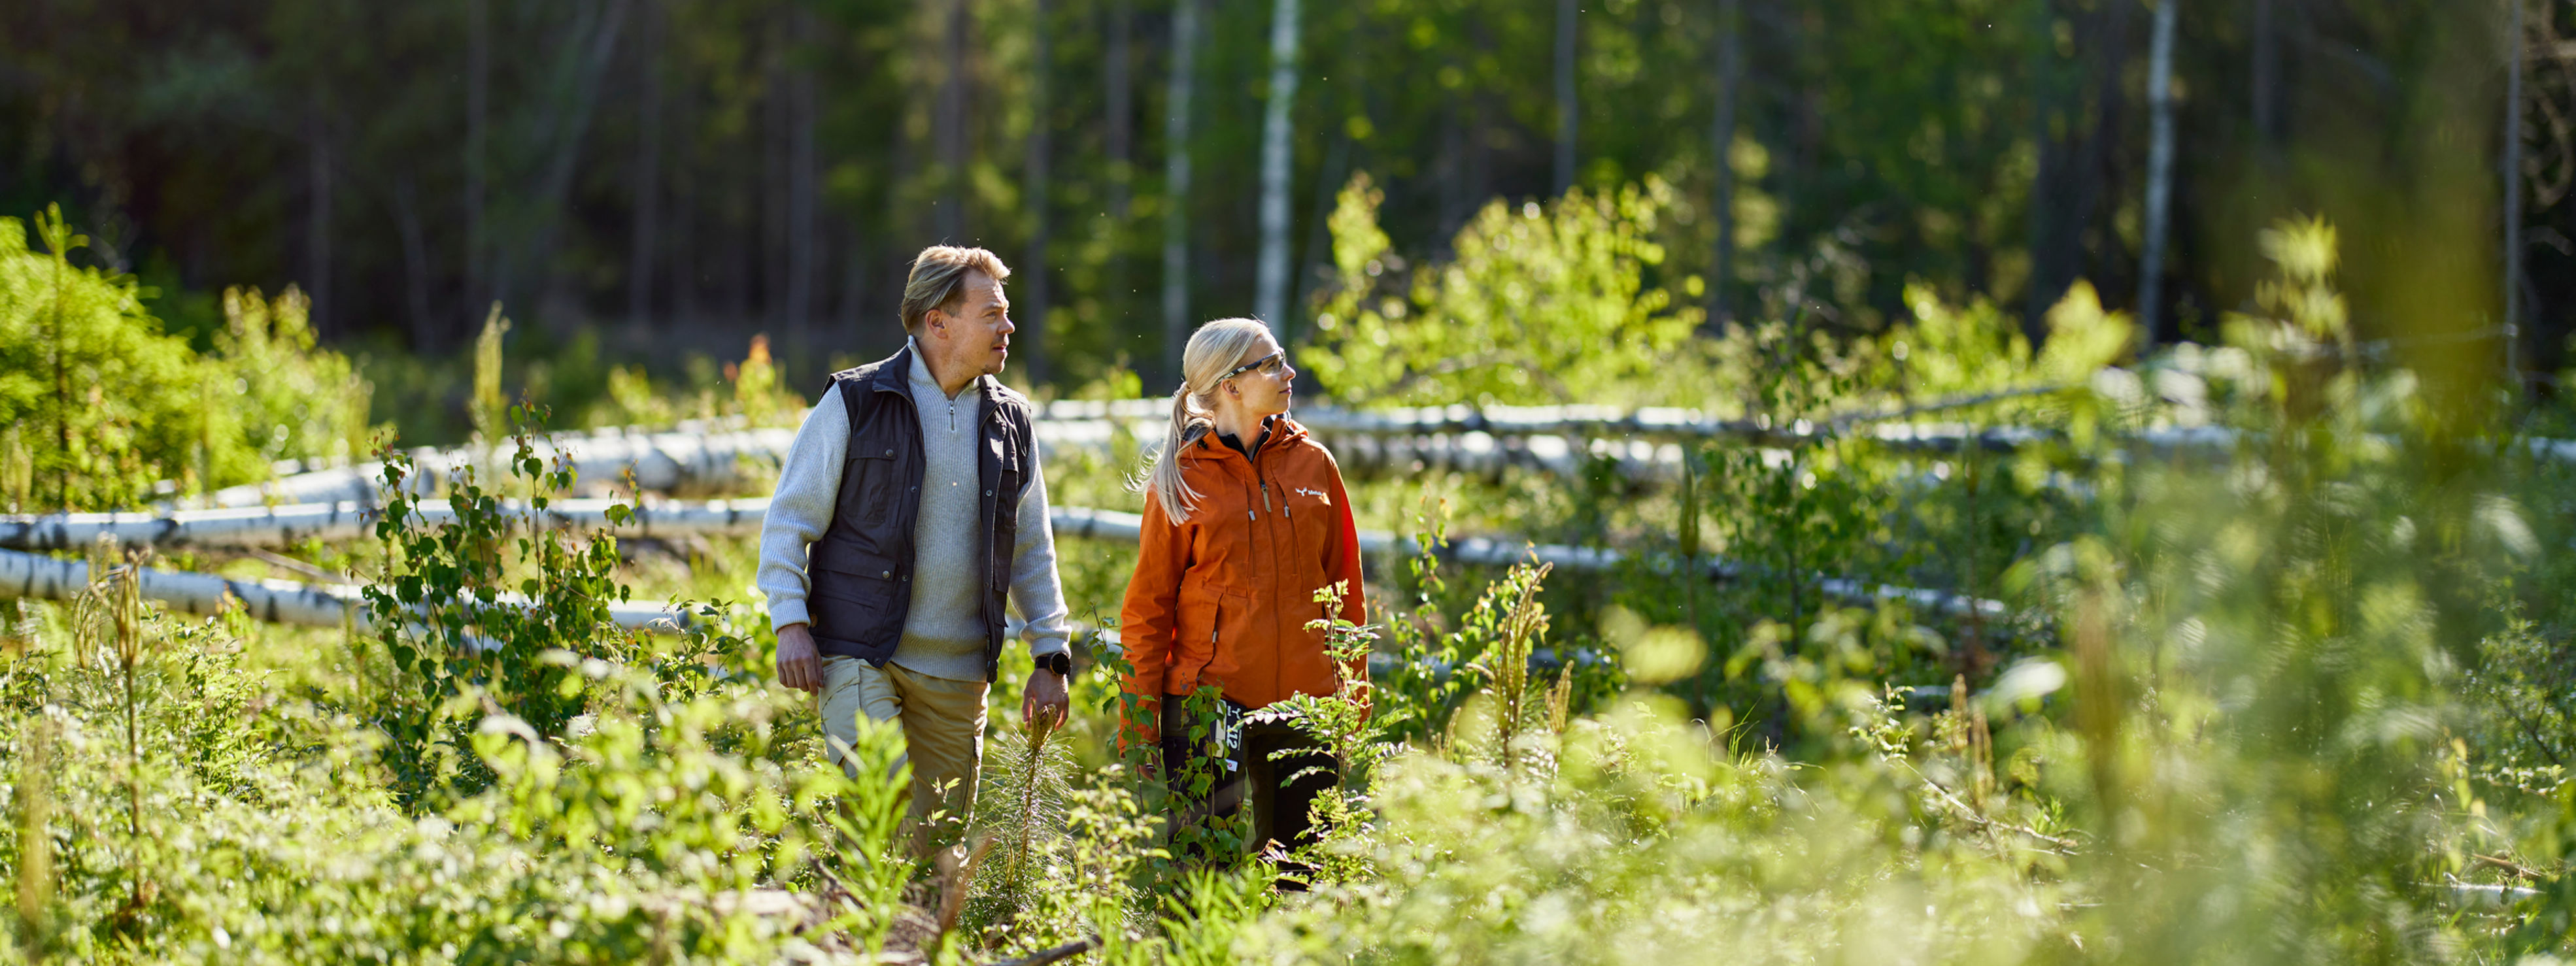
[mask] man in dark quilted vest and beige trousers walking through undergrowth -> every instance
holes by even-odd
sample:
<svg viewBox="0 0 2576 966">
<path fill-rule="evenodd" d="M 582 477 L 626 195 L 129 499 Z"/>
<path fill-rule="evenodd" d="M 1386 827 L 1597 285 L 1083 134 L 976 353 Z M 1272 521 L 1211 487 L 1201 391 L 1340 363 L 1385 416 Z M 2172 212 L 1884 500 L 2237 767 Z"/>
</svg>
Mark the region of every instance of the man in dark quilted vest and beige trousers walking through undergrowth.
<svg viewBox="0 0 2576 966">
<path fill-rule="evenodd" d="M 832 760 L 858 719 L 899 721 L 912 845 L 974 809 L 1002 600 L 1038 672 L 1020 711 L 1059 724 L 1069 670 L 1056 541 L 1030 407 L 1010 358 L 1010 268 L 981 247 L 925 247 L 904 283 L 904 348 L 837 371 L 806 415 L 760 526 L 778 680 L 811 690 Z"/>
</svg>

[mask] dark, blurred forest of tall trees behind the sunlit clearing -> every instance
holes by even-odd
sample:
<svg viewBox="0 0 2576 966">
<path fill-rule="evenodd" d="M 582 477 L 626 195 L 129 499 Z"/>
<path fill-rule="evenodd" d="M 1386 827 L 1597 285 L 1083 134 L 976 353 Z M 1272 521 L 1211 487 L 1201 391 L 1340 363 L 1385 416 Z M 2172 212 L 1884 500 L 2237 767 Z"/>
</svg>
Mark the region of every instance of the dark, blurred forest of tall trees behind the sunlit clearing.
<svg viewBox="0 0 2576 966">
<path fill-rule="evenodd" d="M 0 211 L 64 201 L 98 263 L 173 294 L 155 312 L 198 340 L 222 319 L 180 291 L 296 283 L 327 345 L 430 358 L 497 299 L 515 343 L 595 332 L 662 379 L 768 332 L 799 389 L 896 340 L 904 258 L 938 240 L 1015 263 L 1023 374 L 1066 389 L 1121 366 L 1167 384 L 1172 299 L 1206 319 L 1270 291 L 1270 322 L 1306 337 L 1355 173 L 1394 250 L 1443 260 L 1489 201 L 1662 178 L 1646 283 L 1705 325 L 1803 307 L 1878 332 L 1927 286 L 2040 340 L 2079 278 L 2138 304 L 2151 3 L 1182 3 L 23 0 L 0 10 Z M 2499 330 L 2504 232 L 2406 240 L 2494 219 L 2514 116 L 2514 361 L 2561 366 L 2576 8 L 2530 3 L 2504 44 L 2506 3 L 2177 3 L 2156 343 L 2249 307 L 2249 240 L 2290 214 L 2352 240 L 2360 337 L 2406 335 L 2401 317 Z M 1283 75 L 1285 167 L 1265 178 Z M 1265 258 L 1285 281 L 1265 289 Z M 2411 312 L 2427 260 L 2491 304 Z"/>
</svg>

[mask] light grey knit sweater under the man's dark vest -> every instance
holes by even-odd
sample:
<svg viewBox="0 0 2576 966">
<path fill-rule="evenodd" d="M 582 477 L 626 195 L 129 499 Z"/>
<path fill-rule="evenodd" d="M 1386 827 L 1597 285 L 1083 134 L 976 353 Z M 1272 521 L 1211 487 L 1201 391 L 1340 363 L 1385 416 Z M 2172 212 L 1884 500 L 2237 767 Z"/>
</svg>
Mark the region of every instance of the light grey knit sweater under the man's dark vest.
<svg viewBox="0 0 2576 966">
<path fill-rule="evenodd" d="M 948 680 L 984 680 L 984 567 L 976 554 L 976 420 L 984 394 L 969 384 L 951 399 L 930 379 L 920 348 L 912 350 L 912 407 L 922 420 L 922 507 L 912 528 L 912 611 L 894 662 Z M 953 412 L 951 412 L 953 407 Z M 832 526 L 840 469 L 850 448 L 850 412 L 840 386 L 806 412 L 796 443 L 778 471 L 778 495 L 760 523 L 760 592 L 770 598 L 770 626 L 804 623 L 806 546 Z M 1033 453 L 1036 459 L 1036 453 Z M 1020 538 L 1010 554 L 1010 598 L 1028 621 L 1030 654 L 1066 644 L 1064 587 L 1056 582 L 1056 536 L 1046 526 L 1046 474 L 1030 464 L 1020 497 Z"/>
</svg>

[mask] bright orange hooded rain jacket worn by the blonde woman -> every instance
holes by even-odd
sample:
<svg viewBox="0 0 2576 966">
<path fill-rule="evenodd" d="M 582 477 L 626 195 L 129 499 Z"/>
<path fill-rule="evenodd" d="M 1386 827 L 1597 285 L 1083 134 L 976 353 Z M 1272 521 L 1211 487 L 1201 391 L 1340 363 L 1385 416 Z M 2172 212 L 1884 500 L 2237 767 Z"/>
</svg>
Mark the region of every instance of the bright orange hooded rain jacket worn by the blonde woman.
<svg viewBox="0 0 2576 966">
<path fill-rule="evenodd" d="M 1324 657 L 1316 587 L 1345 582 L 1342 618 L 1368 623 L 1360 592 L 1360 531 L 1350 518 L 1332 451 L 1285 415 L 1252 459 L 1200 433 L 1180 448 L 1180 474 L 1198 492 L 1172 523 L 1146 495 L 1136 577 L 1118 639 L 1133 662 L 1126 690 L 1144 698 L 1136 734 L 1154 742 L 1162 696 L 1218 685 L 1262 708 L 1288 696 L 1340 688 Z M 1342 667 L 1365 680 L 1368 665 Z"/>
</svg>

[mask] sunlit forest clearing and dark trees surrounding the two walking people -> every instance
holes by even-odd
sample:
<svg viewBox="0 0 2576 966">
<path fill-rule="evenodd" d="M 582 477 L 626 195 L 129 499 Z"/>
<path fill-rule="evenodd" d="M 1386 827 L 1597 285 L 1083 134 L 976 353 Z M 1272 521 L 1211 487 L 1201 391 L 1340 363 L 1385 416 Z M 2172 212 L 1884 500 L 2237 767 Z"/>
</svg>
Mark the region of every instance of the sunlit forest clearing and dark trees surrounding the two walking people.
<svg viewBox="0 0 2576 966">
<path fill-rule="evenodd" d="M 2571 31 L 8 5 L 0 951 L 2558 961 Z M 1090 665 L 1061 734 L 997 690 L 971 871 L 747 590 L 933 240 L 1018 268 Z M 1218 314 L 1370 533 L 1306 894 L 1175 860 L 1244 829 L 1110 739 L 1136 397 Z"/>
</svg>

